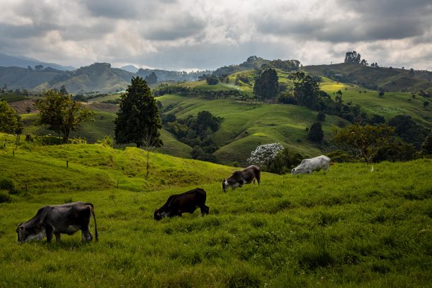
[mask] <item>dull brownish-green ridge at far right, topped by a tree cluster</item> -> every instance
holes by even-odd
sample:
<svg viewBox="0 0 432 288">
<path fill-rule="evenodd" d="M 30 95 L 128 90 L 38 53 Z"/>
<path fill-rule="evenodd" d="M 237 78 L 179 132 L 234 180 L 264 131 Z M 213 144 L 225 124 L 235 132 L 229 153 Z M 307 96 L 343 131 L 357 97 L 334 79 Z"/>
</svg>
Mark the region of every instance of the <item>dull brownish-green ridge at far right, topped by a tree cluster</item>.
<svg viewBox="0 0 432 288">
<path fill-rule="evenodd" d="M 304 71 L 371 90 L 416 91 L 431 89 L 432 72 L 371 67 L 354 63 L 304 66 Z"/>
</svg>

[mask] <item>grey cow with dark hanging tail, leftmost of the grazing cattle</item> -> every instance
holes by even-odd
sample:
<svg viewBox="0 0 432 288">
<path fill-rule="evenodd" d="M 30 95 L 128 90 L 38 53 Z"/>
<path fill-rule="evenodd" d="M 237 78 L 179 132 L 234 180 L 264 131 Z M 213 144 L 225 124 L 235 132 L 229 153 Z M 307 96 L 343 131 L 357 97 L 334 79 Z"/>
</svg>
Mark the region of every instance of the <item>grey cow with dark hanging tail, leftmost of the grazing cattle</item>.
<svg viewBox="0 0 432 288">
<path fill-rule="evenodd" d="M 92 241 L 89 224 L 93 215 L 95 220 L 95 239 L 97 241 L 97 225 L 95 209 L 92 203 L 74 202 L 61 205 L 47 205 L 37 210 L 36 215 L 27 222 L 18 224 L 18 244 L 32 239 L 42 240 L 45 236 L 51 242 L 52 234 L 56 241 L 61 241 L 60 234 L 72 235 L 81 230 L 83 242 Z"/>
</svg>

